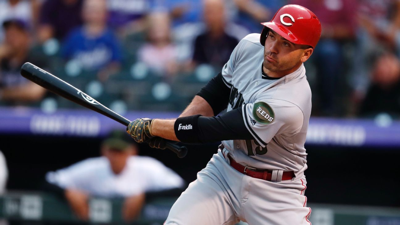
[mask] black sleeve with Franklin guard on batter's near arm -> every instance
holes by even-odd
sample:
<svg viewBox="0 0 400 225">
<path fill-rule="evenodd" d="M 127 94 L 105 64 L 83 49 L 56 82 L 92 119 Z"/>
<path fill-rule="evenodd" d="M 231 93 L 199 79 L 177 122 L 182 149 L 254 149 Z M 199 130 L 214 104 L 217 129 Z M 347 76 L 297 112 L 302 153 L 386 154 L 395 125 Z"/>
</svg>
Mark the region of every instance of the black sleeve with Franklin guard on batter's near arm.
<svg viewBox="0 0 400 225">
<path fill-rule="evenodd" d="M 194 115 L 176 119 L 175 135 L 183 143 L 254 139 L 244 124 L 242 107 L 216 117 Z"/>
</svg>

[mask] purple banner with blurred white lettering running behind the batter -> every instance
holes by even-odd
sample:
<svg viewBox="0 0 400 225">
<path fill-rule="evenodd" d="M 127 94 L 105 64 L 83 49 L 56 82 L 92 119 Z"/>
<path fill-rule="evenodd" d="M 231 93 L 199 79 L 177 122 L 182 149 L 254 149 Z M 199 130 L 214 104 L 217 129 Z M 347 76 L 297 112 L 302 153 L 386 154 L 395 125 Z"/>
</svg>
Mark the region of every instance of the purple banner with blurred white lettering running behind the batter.
<svg viewBox="0 0 400 225">
<path fill-rule="evenodd" d="M 127 119 L 176 118 L 179 112 L 130 111 Z M 45 113 L 38 108 L 0 107 L 0 134 L 103 137 L 123 125 L 91 110 L 59 109 Z M 400 121 L 382 123 L 367 119 L 312 117 L 306 145 L 400 147 Z"/>
</svg>

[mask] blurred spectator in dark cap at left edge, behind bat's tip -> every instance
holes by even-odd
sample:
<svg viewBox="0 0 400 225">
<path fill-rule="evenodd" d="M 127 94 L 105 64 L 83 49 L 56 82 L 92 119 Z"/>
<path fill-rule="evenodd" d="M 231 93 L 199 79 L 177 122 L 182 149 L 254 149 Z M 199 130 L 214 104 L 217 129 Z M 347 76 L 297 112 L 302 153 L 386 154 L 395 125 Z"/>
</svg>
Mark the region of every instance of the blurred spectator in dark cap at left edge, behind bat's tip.
<svg viewBox="0 0 400 225">
<path fill-rule="evenodd" d="M 46 68 L 44 58 L 30 55 L 30 32 L 22 20 L 6 20 L 3 23 L 5 40 L 0 46 L 0 101 L 18 104 L 40 100 L 46 90 L 20 74 L 22 64 L 31 62 Z"/>
</svg>

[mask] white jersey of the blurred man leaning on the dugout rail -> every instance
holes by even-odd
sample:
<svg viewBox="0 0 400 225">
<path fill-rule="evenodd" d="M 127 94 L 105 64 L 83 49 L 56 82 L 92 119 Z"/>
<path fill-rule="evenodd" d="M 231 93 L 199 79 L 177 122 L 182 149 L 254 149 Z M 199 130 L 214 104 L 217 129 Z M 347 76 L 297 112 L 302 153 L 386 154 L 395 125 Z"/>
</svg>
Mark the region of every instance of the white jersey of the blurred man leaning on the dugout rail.
<svg viewBox="0 0 400 225">
<path fill-rule="evenodd" d="M 63 189 L 78 189 L 98 197 L 129 197 L 184 185 L 183 179 L 172 169 L 143 156 L 129 157 L 118 175 L 112 172 L 106 157 L 96 157 L 49 172 L 46 180 Z"/>
</svg>

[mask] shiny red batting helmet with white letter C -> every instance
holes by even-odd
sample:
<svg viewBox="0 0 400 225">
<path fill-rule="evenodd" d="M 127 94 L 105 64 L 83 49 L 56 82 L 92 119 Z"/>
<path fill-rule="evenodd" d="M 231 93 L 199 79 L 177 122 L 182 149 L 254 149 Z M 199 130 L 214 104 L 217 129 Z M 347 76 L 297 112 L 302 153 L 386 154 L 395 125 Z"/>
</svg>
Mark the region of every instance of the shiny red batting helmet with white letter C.
<svg viewBox="0 0 400 225">
<path fill-rule="evenodd" d="M 260 43 L 265 45 L 268 30 L 273 30 L 286 40 L 295 44 L 310 45 L 315 48 L 321 37 L 321 23 L 317 16 L 299 5 L 286 5 L 276 12 L 270 22 L 264 25 Z"/>
</svg>

